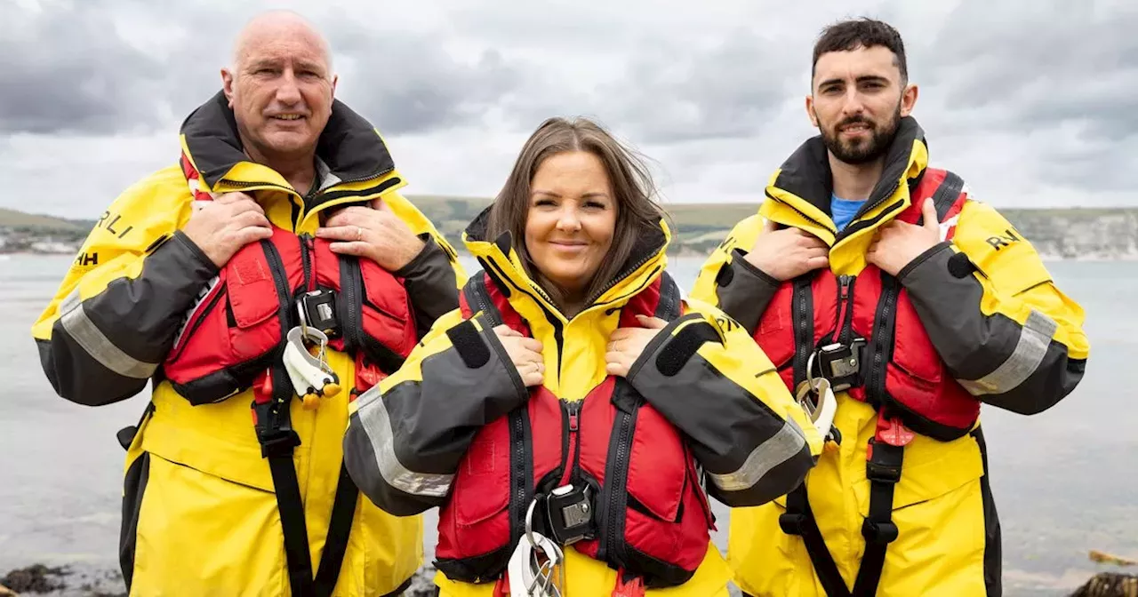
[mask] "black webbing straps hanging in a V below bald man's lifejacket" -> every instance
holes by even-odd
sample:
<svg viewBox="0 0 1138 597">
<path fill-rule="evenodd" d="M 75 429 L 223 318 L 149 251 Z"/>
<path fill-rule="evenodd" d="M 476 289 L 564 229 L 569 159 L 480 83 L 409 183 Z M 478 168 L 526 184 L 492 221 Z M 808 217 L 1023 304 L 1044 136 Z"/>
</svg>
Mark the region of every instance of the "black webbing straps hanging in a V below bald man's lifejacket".
<svg viewBox="0 0 1138 597">
<path fill-rule="evenodd" d="M 289 421 L 292 382 L 282 366 L 272 368 L 272 387 L 271 400 L 264 404 L 254 403 L 253 408 L 257 415 L 256 430 L 257 440 L 261 442 L 261 455 L 269 461 L 277 508 L 280 512 L 289 586 L 295 597 L 329 597 L 336 587 L 340 565 L 344 563 L 358 489 L 341 464 L 328 525 L 328 538 L 320 559 L 320 570 L 313 578 L 304 501 L 300 498 L 300 484 L 292 464 L 292 449 L 300 445 L 300 438 Z"/>
</svg>

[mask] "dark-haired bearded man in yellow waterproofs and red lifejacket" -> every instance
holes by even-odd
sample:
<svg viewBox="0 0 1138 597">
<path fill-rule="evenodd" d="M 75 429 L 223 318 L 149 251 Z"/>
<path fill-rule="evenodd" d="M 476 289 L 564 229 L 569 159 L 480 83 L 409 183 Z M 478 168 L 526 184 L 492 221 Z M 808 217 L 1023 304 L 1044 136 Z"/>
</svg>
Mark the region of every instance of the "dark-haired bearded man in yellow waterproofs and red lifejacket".
<svg viewBox="0 0 1138 597">
<path fill-rule="evenodd" d="M 826 28 L 806 98 L 820 135 L 696 281 L 826 433 L 801 486 L 732 512 L 748 595 L 1000 595 L 980 406 L 1040 413 L 1082 378 L 1082 309 L 1023 234 L 929 167 L 916 100 L 893 27 Z"/>
</svg>

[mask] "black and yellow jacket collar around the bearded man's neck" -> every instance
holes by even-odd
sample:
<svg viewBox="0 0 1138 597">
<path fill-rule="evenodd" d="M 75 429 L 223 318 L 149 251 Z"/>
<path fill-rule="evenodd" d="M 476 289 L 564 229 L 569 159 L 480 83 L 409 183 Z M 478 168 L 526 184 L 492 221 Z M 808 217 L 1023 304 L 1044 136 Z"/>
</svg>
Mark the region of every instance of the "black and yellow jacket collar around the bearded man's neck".
<svg viewBox="0 0 1138 597">
<path fill-rule="evenodd" d="M 874 227 L 909 206 L 909 186 L 929 161 L 924 131 L 916 119 L 900 119 L 897 135 L 885 152 L 881 180 L 839 235 L 830 212 L 833 176 L 822 135 L 802 143 L 780 166 L 767 185 L 760 214 L 781 224 L 810 231 L 830 244 Z"/>
</svg>

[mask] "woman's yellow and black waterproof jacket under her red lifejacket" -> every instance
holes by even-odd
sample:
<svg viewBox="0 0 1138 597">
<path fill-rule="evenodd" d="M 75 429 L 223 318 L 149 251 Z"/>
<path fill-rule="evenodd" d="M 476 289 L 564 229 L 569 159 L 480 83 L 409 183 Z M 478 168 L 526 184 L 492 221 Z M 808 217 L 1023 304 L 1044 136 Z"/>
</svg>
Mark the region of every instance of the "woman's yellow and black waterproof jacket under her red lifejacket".
<svg viewBox="0 0 1138 597">
<path fill-rule="evenodd" d="M 655 234 L 644 234 L 612 284 L 567 320 L 525 273 L 509 233 L 493 241 L 485 239 L 487 214 L 477 218 L 464 235 L 485 271 L 494 272 L 492 282 L 486 283 L 506 289 L 501 292 L 510 307 L 542 342 L 544 388 L 566 401 L 583 400 L 607 378 L 605 347 L 617 329 L 620 308 L 666 275 L 666 225 L 661 223 Z M 530 399 L 530 392 L 521 391 L 520 378 L 492 331 L 487 314 L 476 304 L 471 309 L 470 318 L 463 317 L 461 309 L 440 317 L 399 372 L 355 403 L 357 412 L 352 415 L 345 439 L 348 471 L 361 491 L 385 509 L 414 513 L 453 499 L 452 481 L 475 432 Z M 668 383 L 663 378 L 651 380 L 659 375 L 659 365 L 654 364 L 677 337 L 678 322 L 692 323 L 692 317 L 681 317 L 660 332 L 667 341 L 645 349 L 632 371 L 650 364 L 640 366 L 628 383 L 685 432 L 695 458 L 708 473 L 708 491 L 714 497 L 742 505 L 784 494 L 813 466 L 822 447 L 820 437 L 770 362 L 737 324 L 700 301 L 686 301 L 683 312 L 715 330 L 716 341 L 702 343 L 684 365 L 685 371 L 691 371 L 675 378 L 702 381 L 691 387 L 671 382 L 667 389 L 644 389 Z M 481 349 L 475 350 L 471 345 Z M 481 356 L 464 357 L 463 350 Z M 740 413 L 747 414 L 734 416 Z M 560 428 L 560 420 L 556 425 Z M 775 441 L 767 441 L 774 436 L 768 430 L 782 433 Z M 787 445 L 792 447 L 789 451 Z M 487 465 L 471 462 L 462 466 L 478 470 Z M 734 487 L 728 480 L 734 481 Z M 566 595 L 612 592 L 616 570 L 574 546 L 564 553 Z M 723 556 L 708 541 L 707 554 L 687 582 L 649 589 L 648 595 L 727 595 L 728 580 Z M 489 596 L 495 578 L 479 583 L 456 582 L 440 572 L 436 582 L 445 596 Z"/>
</svg>

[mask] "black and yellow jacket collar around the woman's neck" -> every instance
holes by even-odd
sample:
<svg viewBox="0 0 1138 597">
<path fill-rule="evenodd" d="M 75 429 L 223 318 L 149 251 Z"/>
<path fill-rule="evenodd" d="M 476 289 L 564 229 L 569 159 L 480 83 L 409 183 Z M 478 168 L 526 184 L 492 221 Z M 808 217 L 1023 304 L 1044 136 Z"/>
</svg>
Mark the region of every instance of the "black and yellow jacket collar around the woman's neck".
<svg viewBox="0 0 1138 597">
<path fill-rule="evenodd" d="M 526 273 L 521 257 L 513 249 L 513 235 L 506 231 L 496 239 L 487 238 L 486 227 L 493 205 L 486 207 L 471 221 L 462 233 L 462 240 L 478 263 L 498 285 L 511 302 L 534 300 L 547 313 L 556 314 L 562 321 L 566 316 L 542 287 Z M 671 231 L 661 218 L 655 226 L 648 227 L 637 234 L 637 242 L 632 255 L 603 290 L 585 301 L 582 313 L 592 308 L 611 308 L 626 302 L 641 290 L 648 288 L 667 265 L 667 247 L 671 241 Z M 520 292 L 512 292 L 511 289 Z"/>
</svg>

